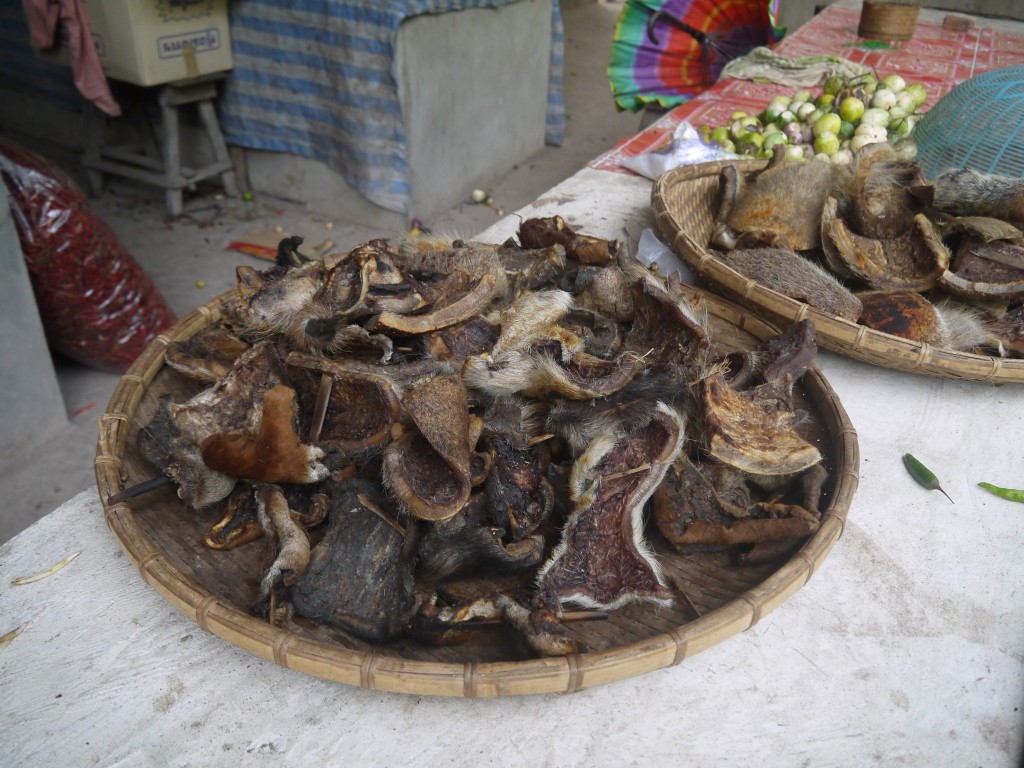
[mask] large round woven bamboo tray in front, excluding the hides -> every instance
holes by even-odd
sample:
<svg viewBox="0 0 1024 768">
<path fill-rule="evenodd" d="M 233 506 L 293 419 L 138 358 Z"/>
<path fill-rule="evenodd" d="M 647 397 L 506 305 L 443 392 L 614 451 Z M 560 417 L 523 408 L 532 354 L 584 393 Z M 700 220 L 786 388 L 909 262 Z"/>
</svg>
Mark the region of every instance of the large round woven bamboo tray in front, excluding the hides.
<svg viewBox="0 0 1024 768">
<path fill-rule="evenodd" d="M 821 525 L 782 562 L 734 566 L 724 554 L 682 556 L 649 532 L 666 575 L 681 587 L 672 608 L 634 605 L 603 621 L 569 625 L 588 652 L 532 657 L 501 628 L 475 630 L 464 645 L 434 648 L 411 640 L 373 644 L 337 629 L 296 618 L 271 626 L 251 614 L 268 565 L 262 542 L 228 552 L 201 539 L 222 510 L 188 510 L 168 487 L 108 504 L 123 487 L 157 475 L 135 446 L 164 393 L 183 399 L 198 391 L 164 366 L 173 341 L 217 322 L 221 301 L 199 307 L 154 340 L 116 388 L 99 421 L 96 481 L 104 515 L 143 580 L 203 629 L 261 658 L 321 678 L 364 688 L 412 694 L 507 696 L 569 693 L 679 664 L 753 627 L 799 590 L 840 539 L 858 481 L 857 435 L 839 397 L 816 368 L 798 387 L 798 407 L 810 415 L 805 437 L 829 472 Z M 709 310 L 713 338 L 725 349 L 756 345 L 777 331 L 710 294 L 691 298 Z M 461 587 L 466 587 L 463 584 Z M 470 583 L 480 595 L 502 586 Z"/>
</svg>

